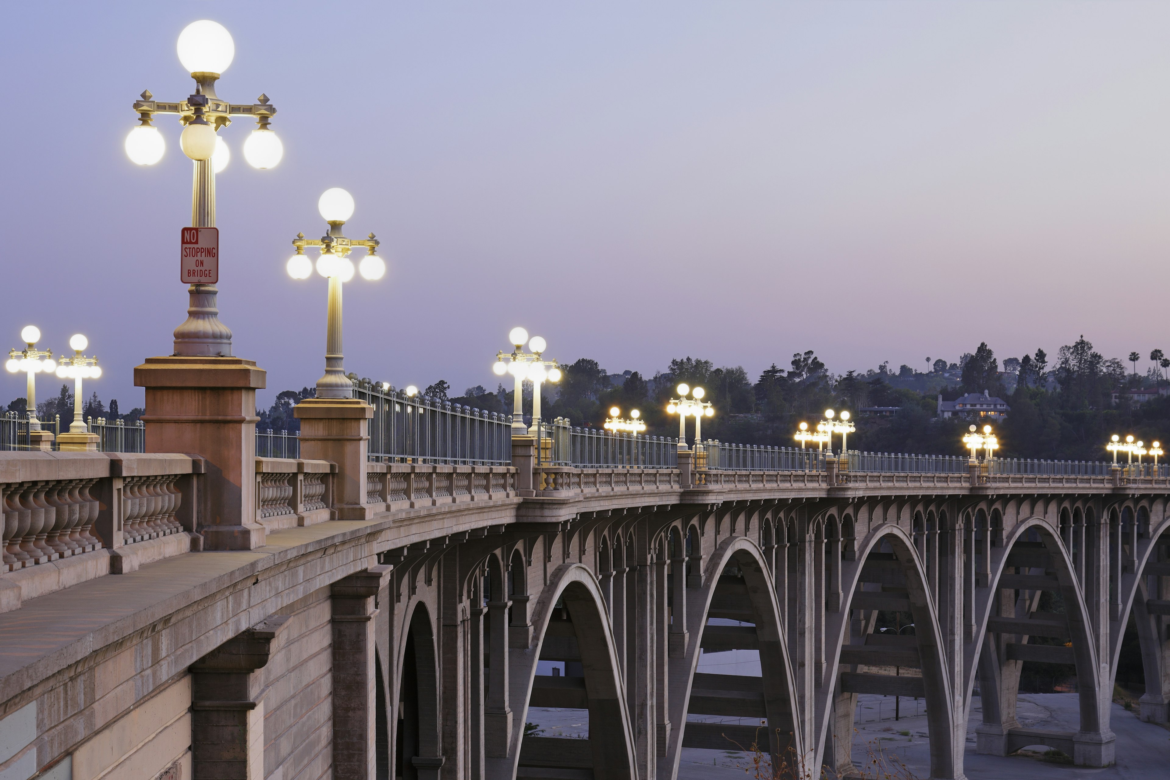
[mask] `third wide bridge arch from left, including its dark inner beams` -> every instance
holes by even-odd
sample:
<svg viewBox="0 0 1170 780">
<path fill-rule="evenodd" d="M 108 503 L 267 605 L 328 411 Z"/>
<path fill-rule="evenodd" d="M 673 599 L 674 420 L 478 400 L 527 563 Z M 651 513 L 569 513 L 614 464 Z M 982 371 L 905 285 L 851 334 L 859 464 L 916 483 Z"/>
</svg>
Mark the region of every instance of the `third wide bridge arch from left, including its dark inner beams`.
<svg viewBox="0 0 1170 780">
<path fill-rule="evenodd" d="M 955 778 L 962 773 L 964 745 L 956 737 L 957 713 L 951 705 L 945 644 L 930 591 L 929 566 L 918 553 L 920 543 L 928 554 L 937 550 L 937 532 L 931 533 L 931 525 L 944 518 L 932 511 L 922 516 L 925 538 L 911 536 L 897 525 L 882 525 L 866 539 L 856 560 L 842 567 L 841 609 L 826 614 L 825 642 L 832 653 L 826 658 L 826 683 L 817 693 L 819 739 L 811 754 L 818 764 L 813 766 L 824 762 L 839 774 L 855 772 L 852 747 L 856 697 L 868 692 L 922 696 L 930 733 L 930 776 Z M 862 617 L 858 622 L 860 631 L 853 628 L 853 609 Z M 875 634 L 879 610 L 910 613 L 913 640 Z M 887 661 L 893 661 L 888 665 L 921 668 L 921 689 L 910 682 L 913 677 L 860 671 L 887 665 Z M 831 757 L 826 755 L 830 750 Z"/>
</svg>

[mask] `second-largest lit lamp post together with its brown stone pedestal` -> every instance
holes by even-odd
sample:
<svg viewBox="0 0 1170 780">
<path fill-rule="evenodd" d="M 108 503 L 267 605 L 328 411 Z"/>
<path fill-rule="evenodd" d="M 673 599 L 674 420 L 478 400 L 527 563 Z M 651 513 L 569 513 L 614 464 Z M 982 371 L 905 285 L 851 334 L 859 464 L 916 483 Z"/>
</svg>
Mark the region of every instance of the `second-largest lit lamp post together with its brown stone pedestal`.
<svg viewBox="0 0 1170 780">
<path fill-rule="evenodd" d="M 292 240 L 296 254 L 285 263 L 288 275 L 307 279 L 317 274 L 329 281 L 325 308 L 325 373 L 317 380 L 316 398 L 304 399 L 292 414 L 301 421 L 301 457 L 337 463 L 335 509 L 337 519 L 365 520 L 381 508 L 370 504 L 366 495 L 370 419 L 373 407 L 353 398 L 353 382 L 345 375 L 342 352 L 342 290 L 353 278 L 355 270 L 370 281 L 386 275 L 386 263 L 377 255 L 378 240 L 347 239 L 343 230 L 353 216 L 353 196 L 340 187 L 326 189 L 317 201 L 317 210 L 329 225 L 321 239 L 305 239 L 298 233 Z M 305 247 L 321 250 L 314 263 Z M 349 258 L 355 247 L 366 250 L 357 269 Z"/>
</svg>

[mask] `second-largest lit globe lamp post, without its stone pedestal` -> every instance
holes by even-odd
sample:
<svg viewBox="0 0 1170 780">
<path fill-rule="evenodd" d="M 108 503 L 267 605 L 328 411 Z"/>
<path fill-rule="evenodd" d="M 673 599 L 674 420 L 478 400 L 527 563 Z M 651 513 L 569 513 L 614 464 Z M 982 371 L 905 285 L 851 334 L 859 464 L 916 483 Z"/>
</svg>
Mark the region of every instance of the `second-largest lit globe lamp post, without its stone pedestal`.
<svg viewBox="0 0 1170 780">
<path fill-rule="evenodd" d="M 289 276 L 305 279 L 312 275 L 314 263 L 304 254 L 305 247 L 319 247 L 317 272 L 329 279 L 329 305 L 325 317 L 325 373 L 317 380 L 317 398 L 353 398 L 353 382 L 345 375 L 342 354 L 342 284 L 353 278 L 353 261 L 349 258 L 355 247 L 366 250 L 358 267 L 363 278 L 380 279 L 386 275 L 386 263 L 376 251 L 378 240 L 346 239 L 342 233 L 345 221 L 353 216 L 353 196 L 340 187 L 326 189 L 317 201 L 317 210 L 329 223 L 329 233 L 321 239 L 305 239 L 297 233 L 292 240 L 296 254 L 285 264 Z"/>
</svg>

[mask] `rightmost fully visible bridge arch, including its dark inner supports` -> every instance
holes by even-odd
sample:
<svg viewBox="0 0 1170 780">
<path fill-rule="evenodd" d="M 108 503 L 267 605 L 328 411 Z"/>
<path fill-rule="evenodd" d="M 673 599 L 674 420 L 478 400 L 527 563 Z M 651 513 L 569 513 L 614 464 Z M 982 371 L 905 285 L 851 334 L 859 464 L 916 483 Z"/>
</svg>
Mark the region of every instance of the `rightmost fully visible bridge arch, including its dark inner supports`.
<svg viewBox="0 0 1170 780">
<path fill-rule="evenodd" d="M 1075 510 L 1072 519 L 1075 537 Z M 1039 612 L 1044 591 L 1060 594 L 1064 613 Z M 1074 559 L 1061 538 L 1059 515 L 1055 526 L 1046 518 L 1032 517 L 1005 532 L 1002 547 L 992 554 L 989 587 L 977 587 L 975 608 L 964 682 L 970 702 L 978 675 L 983 703 L 983 723 L 976 729 L 978 752 L 1007 755 L 1027 745 L 1046 745 L 1072 755 L 1079 765 L 1112 762 L 1112 697 L 1102 688 L 1093 622 Z M 1035 644 L 1030 642 L 1033 636 L 1058 642 L 1067 639 L 1071 647 Z M 1023 663 L 1028 660 L 1075 667 L 1080 681 L 1080 731 L 1075 737 L 1019 726 L 1016 699 Z"/>
</svg>

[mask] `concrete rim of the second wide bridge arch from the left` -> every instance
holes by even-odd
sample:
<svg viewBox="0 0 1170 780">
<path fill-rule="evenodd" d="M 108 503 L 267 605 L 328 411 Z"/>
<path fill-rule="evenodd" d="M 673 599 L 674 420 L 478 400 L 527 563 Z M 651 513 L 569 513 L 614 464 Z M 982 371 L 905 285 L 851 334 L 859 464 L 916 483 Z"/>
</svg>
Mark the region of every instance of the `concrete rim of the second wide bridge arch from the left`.
<svg viewBox="0 0 1170 780">
<path fill-rule="evenodd" d="M 773 762 L 792 764 L 805 754 L 800 724 L 797 717 L 797 692 L 792 677 L 792 662 L 780 622 L 776 587 L 764 552 L 746 537 L 724 539 L 711 553 L 703 572 L 703 586 L 687 588 L 686 655 L 681 663 L 672 658 L 669 670 L 670 737 L 667 743 L 665 776 L 677 774 L 687 730 L 687 711 L 698 655 L 711 601 L 720 584 L 720 575 L 731 562 L 737 564 L 746 586 L 746 594 L 756 623 L 756 642 L 763 671 L 764 706 Z M 777 732 L 779 734 L 777 736 Z M 777 738 L 779 737 L 779 739 Z M 779 766 L 779 764 L 777 764 Z M 663 776 L 660 772 L 659 776 Z"/>
</svg>

